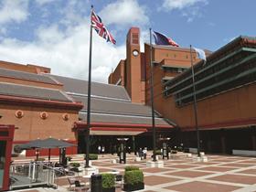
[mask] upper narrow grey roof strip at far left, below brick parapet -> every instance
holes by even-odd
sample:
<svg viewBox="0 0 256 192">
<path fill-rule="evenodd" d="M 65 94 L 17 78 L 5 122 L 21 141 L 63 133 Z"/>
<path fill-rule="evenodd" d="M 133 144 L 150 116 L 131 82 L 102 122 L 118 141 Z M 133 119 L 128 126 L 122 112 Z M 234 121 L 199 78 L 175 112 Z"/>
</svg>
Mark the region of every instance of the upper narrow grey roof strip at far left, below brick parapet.
<svg viewBox="0 0 256 192">
<path fill-rule="evenodd" d="M 56 82 L 55 80 L 52 80 L 48 76 L 30 73 L 30 72 L 23 72 L 23 71 L 14 70 L 14 69 L 0 68 L 0 77 L 15 78 L 19 80 L 33 80 L 33 81 L 39 81 L 44 83 L 50 83 L 50 84 L 58 84 L 58 82 Z"/>
</svg>

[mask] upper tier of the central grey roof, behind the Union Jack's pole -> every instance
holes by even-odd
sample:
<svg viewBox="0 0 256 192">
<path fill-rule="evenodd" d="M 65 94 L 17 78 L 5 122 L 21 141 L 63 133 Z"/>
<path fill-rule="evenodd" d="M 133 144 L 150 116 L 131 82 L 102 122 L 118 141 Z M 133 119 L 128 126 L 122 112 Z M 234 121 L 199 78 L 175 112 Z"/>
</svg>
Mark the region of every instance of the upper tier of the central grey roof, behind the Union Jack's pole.
<svg viewBox="0 0 256 192">
<path fill-rule="evenodd" d="M 60 83 L 64 84 L 64 91 L 67 93 L 76 93 L 87 95 L 88 81 L 66 78 L 56 75 L 44 74 L 53 77 Z M 99 82 L 91 82 L 91 96 L 98 96 L 116 100 L 130 101 L 130 98 L 123 86 L 104 84 Z"/>
</svg>

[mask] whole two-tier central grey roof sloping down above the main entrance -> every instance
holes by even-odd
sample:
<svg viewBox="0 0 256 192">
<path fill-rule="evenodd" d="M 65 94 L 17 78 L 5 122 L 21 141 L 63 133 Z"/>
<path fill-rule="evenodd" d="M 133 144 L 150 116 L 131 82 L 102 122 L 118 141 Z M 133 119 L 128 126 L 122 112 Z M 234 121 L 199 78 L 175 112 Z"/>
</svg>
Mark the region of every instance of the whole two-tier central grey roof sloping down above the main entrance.
<svg viewBox="0 0 256 192">
<path fill-rule="evenodd" d="M 64 91 L 74 101 L 81 101 L 85 106 L 80 111 L 80 119 L 86 122 L 87 106 L 87 80 L 77 80 L 61 76 L 49 75 L 64 85 Z M 170 126 L 163 118 L 157 118 L 155 124 Z M 123 86 L 91 82 L 91 123 L 127 123 L 144 124 L 152 123 L 151 108 L 144 104 L 131 102 Z"/>
</svg>

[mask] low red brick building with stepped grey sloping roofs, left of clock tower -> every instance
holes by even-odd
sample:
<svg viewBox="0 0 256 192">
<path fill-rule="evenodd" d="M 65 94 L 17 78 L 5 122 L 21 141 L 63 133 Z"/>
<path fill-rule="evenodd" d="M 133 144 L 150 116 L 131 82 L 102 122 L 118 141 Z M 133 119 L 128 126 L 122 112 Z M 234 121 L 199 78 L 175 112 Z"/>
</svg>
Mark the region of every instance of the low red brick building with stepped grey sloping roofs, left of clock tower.
<svg viewBox="0 0 256 192">
<path fill-rule="evenodd" d="M 84 153 L 87 86 L 86 80 L 55 76 L 48 68 L 0 61 L 0 124 L 17 127 L 14 144 L 53 137 L 78 145 L 69 147 L 67 154 Z M 99 144 L 111 152 L 118 136 L 129 137 L 131 147 L 140 137 L 142 146 L 147 145 L 150 108 L 133 103 L 122 86 L 92 82 L 91 87 L 91 152 Z M 163 132 L 174 128 L 160 116 L 156 126 Z M 144 136 L 136 139 L 141 133 Z M 56 149 L 52 154 L 58 153 Z M 47 154 L 48 150 L 40 151 L 40 155 Z M 35 155 L 35 151 L 26 155 Z"/>
</svg>

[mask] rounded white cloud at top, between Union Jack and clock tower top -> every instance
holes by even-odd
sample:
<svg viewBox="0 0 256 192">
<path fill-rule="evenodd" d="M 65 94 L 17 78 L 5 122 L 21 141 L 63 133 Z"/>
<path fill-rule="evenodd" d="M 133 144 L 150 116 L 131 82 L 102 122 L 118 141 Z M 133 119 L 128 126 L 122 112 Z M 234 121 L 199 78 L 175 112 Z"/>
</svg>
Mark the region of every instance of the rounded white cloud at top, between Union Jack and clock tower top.
<svg viewBox="0 0 256 192">
<path fill-rule="evenodd" d="M 149 22 L 146 7 L 139 5 L 136 0 L 116 1 L 106 5 L 99 15 L 106 25 L 145 25 Z"/>
</svg>

